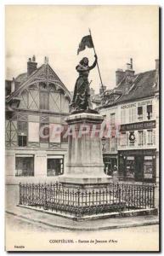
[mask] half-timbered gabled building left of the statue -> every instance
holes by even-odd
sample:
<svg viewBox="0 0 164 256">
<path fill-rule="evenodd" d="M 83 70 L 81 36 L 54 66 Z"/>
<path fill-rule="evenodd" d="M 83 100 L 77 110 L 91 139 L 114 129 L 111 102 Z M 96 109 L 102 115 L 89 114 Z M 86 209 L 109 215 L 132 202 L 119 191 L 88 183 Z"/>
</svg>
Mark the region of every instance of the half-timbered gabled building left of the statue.
<svg viewBox="0 0 164 256">
<path fill-rule="evenodd" d="M 52 180 L 65 172 L 67 140 L 51 131 L 65 125 L 70 101 L 46 57 L 38 68 L 35 56 L 29 58 L 25 73 L 6 80 L 6 183 Z"/>
</svg>

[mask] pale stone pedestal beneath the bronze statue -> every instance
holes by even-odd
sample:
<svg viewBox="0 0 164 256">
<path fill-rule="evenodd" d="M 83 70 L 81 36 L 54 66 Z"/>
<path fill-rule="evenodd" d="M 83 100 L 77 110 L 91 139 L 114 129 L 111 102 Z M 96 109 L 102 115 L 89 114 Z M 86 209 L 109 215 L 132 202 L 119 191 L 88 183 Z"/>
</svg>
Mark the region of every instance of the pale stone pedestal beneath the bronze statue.
<svg viewBox="0 0 164 256">
<path fill-rule="evenodd" d="M 66 122 L 68 162 L 59 182 L 71 187 L 104 186 L 110 178 L 104 172 L 100 128 L 103 117 L 99 113 L 71 114 Z"/>
</svg>

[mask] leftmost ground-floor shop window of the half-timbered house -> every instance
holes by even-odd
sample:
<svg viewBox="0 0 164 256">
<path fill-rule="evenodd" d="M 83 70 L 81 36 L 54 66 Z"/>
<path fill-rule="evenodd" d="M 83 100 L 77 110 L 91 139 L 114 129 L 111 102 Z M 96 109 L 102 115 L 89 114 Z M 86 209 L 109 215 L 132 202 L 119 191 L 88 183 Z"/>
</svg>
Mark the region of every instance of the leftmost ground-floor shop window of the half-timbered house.
<svg viewBox="0 0 164 256">
<path fill-rule="evenodd" d="M 34 176 L 34 157 L 16 156 L 15 176 Z"/>
</svg>

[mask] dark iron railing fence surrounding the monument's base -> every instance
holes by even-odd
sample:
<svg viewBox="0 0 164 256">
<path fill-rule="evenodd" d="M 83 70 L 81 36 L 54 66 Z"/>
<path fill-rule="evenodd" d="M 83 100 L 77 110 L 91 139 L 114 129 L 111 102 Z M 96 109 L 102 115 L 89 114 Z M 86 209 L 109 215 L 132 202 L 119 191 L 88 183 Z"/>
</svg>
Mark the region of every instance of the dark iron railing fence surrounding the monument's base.
<svg viewBox="0 0 164 256">
<path fill-rule="evenodd" d="M 20 205 L 87 216 L 155 207 L 155 186 L 109 183 L 99 189 L 71 189 L 61 183 L 20 183 Z"/>
</svg>

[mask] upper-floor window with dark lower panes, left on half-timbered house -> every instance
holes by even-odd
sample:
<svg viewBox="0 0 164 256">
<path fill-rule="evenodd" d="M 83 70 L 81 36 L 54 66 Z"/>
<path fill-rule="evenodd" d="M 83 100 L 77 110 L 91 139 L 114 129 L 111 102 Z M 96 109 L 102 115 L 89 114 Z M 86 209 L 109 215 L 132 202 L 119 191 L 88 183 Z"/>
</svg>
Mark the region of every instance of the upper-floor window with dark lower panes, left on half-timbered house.
<svg viewBox="0 0 164 256">
<path fill-rule="evenodd" d="M 27 145 L 27 122 L 18 121 L 18 146 Z"/>
</svg>

